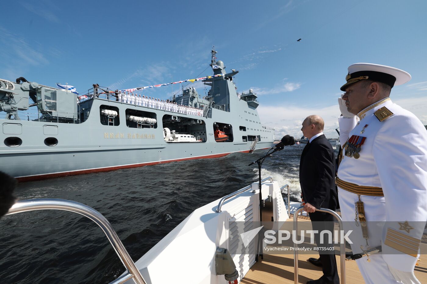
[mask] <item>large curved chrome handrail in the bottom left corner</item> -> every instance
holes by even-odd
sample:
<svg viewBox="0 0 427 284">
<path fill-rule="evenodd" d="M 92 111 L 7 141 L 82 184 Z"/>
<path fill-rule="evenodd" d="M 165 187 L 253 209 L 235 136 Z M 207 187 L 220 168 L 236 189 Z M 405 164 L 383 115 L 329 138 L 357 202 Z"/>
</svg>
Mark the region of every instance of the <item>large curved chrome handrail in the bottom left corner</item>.
<svg viewBox="0 0 427 284">
<path fill-rule="evenodd" d="M 105 236 L 108 238 L 108 241 L 110 241 L 111 245 L 113 246 L 114 251 L 117 253 L 123 265 L 128 270 L 127 274 L 130 274 L 132 276 L 129 277 L 127 276 L 127 274 L 125 274 L 111 283 L 123 283 L 122 281 L 124 279 L 129 280 L 130 278 L 133 278 L 137 284 L 146 284 L 146 281 L 143 279 L 140 271 L 137 269 L 129 253 L 123 246 L 123 243 L 120 241 L 119 236 L 111 227 L 110 222 L 108 222 L 108 220 L 104 216 L 102 216 L 102 214 L 99 213 L 97 210 L 85 204 L 70 200 L 53 198 L 22 200 L 16 202 L 9 209 L 9 212 L 6 214 L 6 216 L 21 212 L 45 209 L 63 210 L 80 214 L 91 219 L 99 226 L 99 228 L 101 228 L 102 232 L 104 232 Z"/>
</svg>

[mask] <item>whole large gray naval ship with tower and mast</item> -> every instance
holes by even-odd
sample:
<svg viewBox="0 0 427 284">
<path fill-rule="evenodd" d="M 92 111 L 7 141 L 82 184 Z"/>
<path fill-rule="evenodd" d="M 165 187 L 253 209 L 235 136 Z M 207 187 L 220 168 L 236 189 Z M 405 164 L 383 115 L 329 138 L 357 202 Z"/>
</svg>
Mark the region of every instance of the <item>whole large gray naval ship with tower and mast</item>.
<svg viewBox="0 0 427 284">
<path fill-rule="evenodd" d="M 256 94 L 237 93 L 239 71 L 226 72 L 211 54 L 208 95 L 192 87 L 170 98 L 184 108 L 119 99 L 97 84 L 78 96 L 0 79 L 0 171 L 28 181 L 272 147 L 274 128 L 261 124 Z"/>
</svg>

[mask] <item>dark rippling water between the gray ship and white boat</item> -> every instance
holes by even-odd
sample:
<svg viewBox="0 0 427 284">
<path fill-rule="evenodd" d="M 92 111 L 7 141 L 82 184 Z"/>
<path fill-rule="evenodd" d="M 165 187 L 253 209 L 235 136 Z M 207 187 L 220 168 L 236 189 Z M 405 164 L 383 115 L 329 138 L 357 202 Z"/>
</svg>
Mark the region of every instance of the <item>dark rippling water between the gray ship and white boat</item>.
<svg viewBox="0 0 427 284">
<path fill-rule="evenodd" d="M 294 199 L 301 191 L 303 148 L 285 147 L 264 161 L 261 172 L 262 178 L 289 183 Z M 193 210 L 256 181 L 257 167 L 248 164 L 264 154 L 236 153 L 21 183 L 15 195 L 93 207 L 110 221 L 137 261 Z M 108 283 L 124 270 L 101 229 L 78 214 L 47 210 L 0 220 L 1 283 Z"/>
</svg>

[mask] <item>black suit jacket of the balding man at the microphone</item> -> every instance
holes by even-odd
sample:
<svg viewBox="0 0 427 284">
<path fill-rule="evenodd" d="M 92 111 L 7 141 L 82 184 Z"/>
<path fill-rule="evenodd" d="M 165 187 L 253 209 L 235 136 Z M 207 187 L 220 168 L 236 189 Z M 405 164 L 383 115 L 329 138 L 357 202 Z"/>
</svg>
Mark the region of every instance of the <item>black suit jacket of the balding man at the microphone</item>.
<svg viewBox="0 0 427 284">
<path fill-rule="evenodd" d="M 317 209 L 336 210 L 335 158 L 325 135 L 305 145 L 299 164 L 299 183 L 305 202 Z"/>
</svg>

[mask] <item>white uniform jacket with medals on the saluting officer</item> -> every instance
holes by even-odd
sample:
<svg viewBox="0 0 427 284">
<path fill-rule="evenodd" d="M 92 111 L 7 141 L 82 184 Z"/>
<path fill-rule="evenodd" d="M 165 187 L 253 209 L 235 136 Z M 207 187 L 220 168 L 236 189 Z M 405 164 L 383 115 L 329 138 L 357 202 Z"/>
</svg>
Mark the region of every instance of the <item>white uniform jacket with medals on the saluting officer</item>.
<svg viewBox="0 0 427 284">
<path fill-rule="evenodd" d="M 348 183 L 383 189 L 384 197 L 361 196 L 366 221 L 386 221 L 382 228 L 368 225 L 369 235 L 376 229 L 379 231 L 377 239 L 369 238 L 369 245 L 382 246 L 382 257 L 388 266 L 413 271 L 427 220 L 427 131 L 414 114 L 389 98 L 370 107 L 358 114 L 360 122 L 356 117 L 339 118 L 343 154 L 349 137 L 366 139 L 360 146 L 358 159 L 343 155 L 338 177 Z M 381 114 L 385 110 L 382 109 L 377 118 L 375 112 L 382 107 L 392 114 Z M 343 220 L 354 222 L 357 199 L 357 194 L 339 188 L 339 202 L 352 206 L 352 209 L 342 208 Z M 366 245 L 363 238 L 361 242 L 354 247 Z"/>
</svg>

